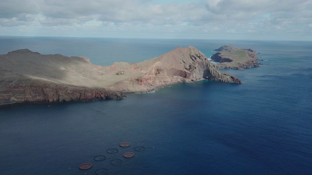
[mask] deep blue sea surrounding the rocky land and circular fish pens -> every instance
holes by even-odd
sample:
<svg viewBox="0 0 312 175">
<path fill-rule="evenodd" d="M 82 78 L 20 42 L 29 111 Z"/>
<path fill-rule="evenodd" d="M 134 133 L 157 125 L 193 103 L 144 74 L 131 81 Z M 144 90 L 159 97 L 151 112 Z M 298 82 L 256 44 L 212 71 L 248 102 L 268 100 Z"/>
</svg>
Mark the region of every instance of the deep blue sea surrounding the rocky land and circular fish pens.
<svg viewBox="0 0 312 175">
<path fill-rule="evenodd" d="M 0 174 L 312 175 L 312 42 L 1 36 L 0 54 L 28 48 L 108 66 L 187 46 L 210 57 L 226 44 L 260 53 L 258 68 L 224 70 L 244 84 L 204 80 L 122 100 L 0 107 Z"/>
</svg>

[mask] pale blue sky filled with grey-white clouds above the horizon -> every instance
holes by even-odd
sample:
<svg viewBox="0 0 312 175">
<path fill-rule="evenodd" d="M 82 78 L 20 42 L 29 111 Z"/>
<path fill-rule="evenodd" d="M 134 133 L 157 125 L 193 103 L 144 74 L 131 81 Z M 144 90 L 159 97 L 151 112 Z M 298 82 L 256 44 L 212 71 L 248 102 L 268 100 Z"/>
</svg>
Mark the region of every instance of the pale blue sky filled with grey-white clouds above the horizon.
<svg viewBox="0 0 312 175">
<path fill-rule="evenodd" d="M 0 0 L 0 35 L 312 40 L 312 0 Z"/>
</svg>

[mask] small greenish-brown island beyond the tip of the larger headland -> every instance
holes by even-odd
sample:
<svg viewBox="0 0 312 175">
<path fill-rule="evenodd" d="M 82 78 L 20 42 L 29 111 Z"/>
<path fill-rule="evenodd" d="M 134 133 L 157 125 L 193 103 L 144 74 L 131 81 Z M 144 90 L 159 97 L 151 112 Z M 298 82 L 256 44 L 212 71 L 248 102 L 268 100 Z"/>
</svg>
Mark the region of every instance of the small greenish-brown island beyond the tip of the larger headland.
<svg viewBox="0 0 312 175">
<path fill-rule="evenodd" d="M 211 59 L 219 64 L 216 67 L 219 69 L 237 69 L 244 70 L 246 68 L 259 67 L 257 63 L 259 58 L 253 49 L 237 49 L 226 45 L 215 49 L 215 54 Z"/>
</svg>

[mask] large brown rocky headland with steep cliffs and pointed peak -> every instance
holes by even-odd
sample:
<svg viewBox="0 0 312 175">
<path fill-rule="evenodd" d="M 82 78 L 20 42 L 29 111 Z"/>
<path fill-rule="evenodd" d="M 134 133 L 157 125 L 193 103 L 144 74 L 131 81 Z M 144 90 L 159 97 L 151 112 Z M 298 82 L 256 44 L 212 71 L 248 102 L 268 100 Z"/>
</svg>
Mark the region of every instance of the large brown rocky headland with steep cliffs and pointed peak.
<svg viewBox="0 0 312 175">
<path fill-rule="evenodd" d="M 82 56 L 40 54 L 28 49 L 0 55 L 0 105 L 25 102 L 121 99 L 179 82 L 242 83 L 221 72 L 190 46 L 139 63 L 91 64 Z"/>
</svg>

